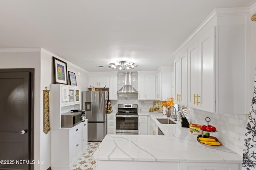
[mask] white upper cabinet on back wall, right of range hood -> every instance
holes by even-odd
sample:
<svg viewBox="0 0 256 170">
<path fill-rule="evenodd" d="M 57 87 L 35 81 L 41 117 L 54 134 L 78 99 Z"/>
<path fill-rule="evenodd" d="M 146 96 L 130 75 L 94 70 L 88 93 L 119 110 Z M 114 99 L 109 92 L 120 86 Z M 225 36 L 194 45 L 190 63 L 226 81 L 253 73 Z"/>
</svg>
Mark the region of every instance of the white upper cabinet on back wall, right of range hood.
<svg viewBox="0 0 256 170">
<path fill-rule="evenodd" d="M 138 100 L 155 99 L 155 72 L 138 72 Z"/>
</svg>

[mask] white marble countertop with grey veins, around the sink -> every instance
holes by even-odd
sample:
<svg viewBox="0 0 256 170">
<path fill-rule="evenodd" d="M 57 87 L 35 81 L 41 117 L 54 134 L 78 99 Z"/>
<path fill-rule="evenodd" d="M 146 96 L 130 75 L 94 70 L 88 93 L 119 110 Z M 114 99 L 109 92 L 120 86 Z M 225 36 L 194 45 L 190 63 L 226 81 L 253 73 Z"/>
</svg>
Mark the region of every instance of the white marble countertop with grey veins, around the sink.
<svg viewBox="0 0 256 170">
<path fill-rule="evenodd" d="M 180 121 L 160 124 L 156 118 L 166 117 L 163 113 L 138 114 L 150 115 L 165 135 L 106 135 L 94 153 L 96 160 L 242 163 L 242 156 L 224 146 L 206 146 L 196 141 L 197 135 L 181 127 Z"/>
</svg>

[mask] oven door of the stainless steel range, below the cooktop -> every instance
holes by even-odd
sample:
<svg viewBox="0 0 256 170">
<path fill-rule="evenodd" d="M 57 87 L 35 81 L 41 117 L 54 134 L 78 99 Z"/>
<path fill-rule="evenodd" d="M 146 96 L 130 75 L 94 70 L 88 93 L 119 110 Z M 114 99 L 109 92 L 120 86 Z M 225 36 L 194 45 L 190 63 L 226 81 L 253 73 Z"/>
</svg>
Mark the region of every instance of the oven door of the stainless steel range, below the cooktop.
<svg viewBox="0 0 256 170">
<path fill-rule="evenodd" d="M 116 115 L 117 135 L 138 135 L 138 115 Z"/>
</svg>

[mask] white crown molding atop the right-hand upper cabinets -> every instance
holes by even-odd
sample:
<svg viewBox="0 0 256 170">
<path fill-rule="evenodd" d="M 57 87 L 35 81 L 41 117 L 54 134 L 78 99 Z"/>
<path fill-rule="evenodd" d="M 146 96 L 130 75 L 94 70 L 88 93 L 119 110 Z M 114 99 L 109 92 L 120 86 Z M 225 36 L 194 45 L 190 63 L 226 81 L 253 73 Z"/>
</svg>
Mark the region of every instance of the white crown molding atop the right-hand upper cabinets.
<svg viewBox="0 0 256 170">
<path fill-rule="evenodd" d="M 172 53 L 176 55 L 186 44 L 188 44 L 204 27 L 206 27 L 212 20 L 220 16 L 239 16 L 239 15 L 249 15 L 250 8 L 218 8 L 214 9 L 204 21 L 190 34 L 190 36 Z"/>
</svg>

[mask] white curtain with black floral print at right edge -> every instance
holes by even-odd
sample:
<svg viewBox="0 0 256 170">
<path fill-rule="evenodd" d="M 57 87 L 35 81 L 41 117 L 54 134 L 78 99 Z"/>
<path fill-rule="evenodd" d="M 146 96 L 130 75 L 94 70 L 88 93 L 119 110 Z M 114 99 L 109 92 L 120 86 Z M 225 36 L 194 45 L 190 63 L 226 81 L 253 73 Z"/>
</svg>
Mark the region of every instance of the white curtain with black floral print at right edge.
<svg viewBox="0 0 256 170">
<path fill-rule="evenodd" d="M 254 80 L 254 92 L 252 107 L 248 117 L 244 138 L 244 153 L 242 170 L 256 170 L 256 75 Z"/>
</svg>

